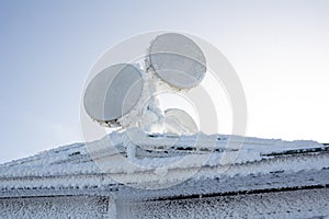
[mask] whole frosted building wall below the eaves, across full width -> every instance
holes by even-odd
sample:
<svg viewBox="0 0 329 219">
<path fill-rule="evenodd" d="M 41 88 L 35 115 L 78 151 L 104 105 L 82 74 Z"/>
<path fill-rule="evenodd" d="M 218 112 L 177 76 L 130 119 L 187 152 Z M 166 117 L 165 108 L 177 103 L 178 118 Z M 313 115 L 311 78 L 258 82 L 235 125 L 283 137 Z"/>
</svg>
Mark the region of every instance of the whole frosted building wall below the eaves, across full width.
<svg viewBox="0 0 329 219">
<path fill-rule="evenodd" d="M 116 201 L 105 197 L 61 196 L 0 199 L 0 218 L 329 218 L 329 188 L 262 194 Z"/>
</svg>

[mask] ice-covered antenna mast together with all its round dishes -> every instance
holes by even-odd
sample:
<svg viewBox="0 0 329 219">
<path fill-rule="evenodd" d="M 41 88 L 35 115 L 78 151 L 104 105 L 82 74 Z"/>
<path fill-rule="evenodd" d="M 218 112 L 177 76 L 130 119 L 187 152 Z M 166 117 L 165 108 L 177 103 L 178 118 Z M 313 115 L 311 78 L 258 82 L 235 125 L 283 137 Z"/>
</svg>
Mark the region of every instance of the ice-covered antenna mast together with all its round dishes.
<svg viewBox="0 0 329 219">
<path fill-rule="evenodd" d="M 194 131 L 193 119 L 181 110 L 164 113 L 157 104 L 155 94 L 158 92 L 159 81 L 166 84 L 168 92 L 189 90 L 201 83 L 206 73 L 206 60 L 202 49 L 191 38 L 177 33 L 166 33 L 157 36 L 148 48 L 145 57 L 145 71 L 131 64 L 117 64 L 102 70 L 88 84 L 83 105 L 88 115 L 109 127 L 129 128 L 151 126 L 154 123 L 166 122 L 170 116 L 181 124 L 184 130 Z M 163 91 L 163 88 L 161 88 Z M 157 117 L 148 122 L 141 117 L 145 113 Z M 152 116 L 149 116 L 152 117 Z M 167 122 L 170 122 L 167 119 Z M 191 122 L 192 119 L 192 122 Z M 173 124 L 170 122 L 170 129 Z"/>
</svg>

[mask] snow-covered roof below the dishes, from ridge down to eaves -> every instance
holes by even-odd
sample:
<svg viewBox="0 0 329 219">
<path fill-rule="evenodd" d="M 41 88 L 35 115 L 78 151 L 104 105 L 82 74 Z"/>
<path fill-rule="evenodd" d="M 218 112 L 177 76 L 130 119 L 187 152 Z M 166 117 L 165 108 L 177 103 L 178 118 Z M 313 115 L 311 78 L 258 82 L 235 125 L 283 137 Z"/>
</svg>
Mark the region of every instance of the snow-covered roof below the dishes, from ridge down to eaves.
<svg viewBox="0 0 329 219">
<path fill-rule="evenodd" d="M 116 158 L 126 155 L 128 135 L 125 131 L 112 132 L 100 141 L 89 143 L 88 148 L 84 143 L 75 143 L 1 164 L 0 197 L 110 194 L 128 199 L 159 199 L 327 186 L 329 182 L 329 148 L 315 141 L 246 138 L 241 148 L 226 148 L 229 140 L 239 141 L 241 138 L 198 135 L 198 143 L 195 145 L 196 136 L 138 135 L 139 142 L 134 141 L 137 146 L 134 162 L 145 168 L 122 166 Z M 215 139 L 215 143 L 209 139 Z M 115 150 L 102 151 L 101 158 L 90 151 L 91 147 L 98 148 L 106 140 Z M 172 146 L 173 140 L 174 147 L 167 147 Z M 213 145 L 209 146 L 209 142 Z M 224 153 L 234 161 L 228 163 L 223 159 Z M 191 159 L 179 166 L 160 165 L 186 154 Z M 208 155 L 206 162 L 198 163 L 205 155 Z M 104 157 L 111 165 L 106 171 L 94 162 Z M 157 183 L 154 177 L 157 174 L 164 175 L 169 183 L 179 182 L 182 175 L 201 164 L 202 168 L 190 180 L 175 186 L 151 192 L 134 188 L 138 183 Z M 125 183 L 114 181 L 112 176 L 115 175 L 124 177 Z"/>
</svg>

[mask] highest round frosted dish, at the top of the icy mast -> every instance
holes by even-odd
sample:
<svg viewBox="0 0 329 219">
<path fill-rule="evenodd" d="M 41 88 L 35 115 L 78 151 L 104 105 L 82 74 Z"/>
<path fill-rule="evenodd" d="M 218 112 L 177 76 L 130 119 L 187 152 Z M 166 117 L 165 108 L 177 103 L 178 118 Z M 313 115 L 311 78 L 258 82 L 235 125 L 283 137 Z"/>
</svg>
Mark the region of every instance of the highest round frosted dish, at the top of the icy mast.
<svg viewBox="0 0 329 219">
<path fill-rule="evenodd" d="M 201 48 L 182 34 L 159 35 L 149 48 L 149 61 L 156 73 L 178 89 L 201 83 L 206 73 L 206 60 Z"/>
</svg>

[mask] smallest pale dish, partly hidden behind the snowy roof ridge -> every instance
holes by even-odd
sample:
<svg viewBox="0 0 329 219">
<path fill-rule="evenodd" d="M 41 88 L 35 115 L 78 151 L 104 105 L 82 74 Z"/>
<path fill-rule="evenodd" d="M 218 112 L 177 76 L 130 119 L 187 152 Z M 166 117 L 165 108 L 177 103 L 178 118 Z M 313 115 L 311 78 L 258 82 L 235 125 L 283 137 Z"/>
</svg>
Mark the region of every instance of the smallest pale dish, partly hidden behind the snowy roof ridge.
<svg viewBox="0 0 329 219">
<path fill-rule="evenodd" d="M 167 134 L 189 135 L 197 132 L 197 126 L 193 118 L 179 108 L 164 111 L 164 128 Z"/>
</svg>

